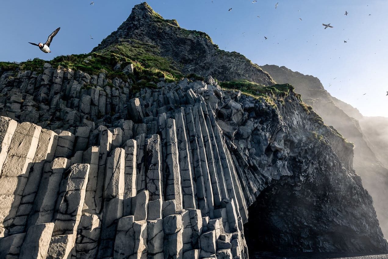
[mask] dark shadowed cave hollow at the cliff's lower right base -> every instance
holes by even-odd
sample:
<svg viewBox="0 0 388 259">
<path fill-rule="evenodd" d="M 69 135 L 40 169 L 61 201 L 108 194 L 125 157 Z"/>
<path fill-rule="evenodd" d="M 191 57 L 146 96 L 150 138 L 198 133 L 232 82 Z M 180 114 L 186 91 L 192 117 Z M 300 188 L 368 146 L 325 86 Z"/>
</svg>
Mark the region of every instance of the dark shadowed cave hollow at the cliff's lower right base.
<svg viewBox="0 0 388 259">
<path fill-rule="evenodd" d="M 290 180 L 281 179 L 268 186 L 248 208 L 244 236 L 250 258 L 262 252 L 373 253 L 380 250 L 367 235 L 349 228 L 343 216 L 328 210 L 332 206 L 339 209 L 338 205 L 344 204 L 328 195 L 327 186 L 305 182 L 302 187 L 301 183 Z"/>
</svg>

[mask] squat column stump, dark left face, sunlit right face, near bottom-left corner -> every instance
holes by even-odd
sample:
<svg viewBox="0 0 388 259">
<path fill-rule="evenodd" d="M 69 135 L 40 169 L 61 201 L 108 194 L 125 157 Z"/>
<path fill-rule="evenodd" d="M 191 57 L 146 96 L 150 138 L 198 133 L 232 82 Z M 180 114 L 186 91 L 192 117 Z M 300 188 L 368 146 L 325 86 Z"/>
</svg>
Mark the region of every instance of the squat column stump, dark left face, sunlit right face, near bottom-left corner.
<svg viewBox="0 0 388 259">
<path fill-rule="evenodd" d="M 20 249 L 20 259 L 45 259 L 49 250 L 54 223 L 31 226 Z"/>
</svg>

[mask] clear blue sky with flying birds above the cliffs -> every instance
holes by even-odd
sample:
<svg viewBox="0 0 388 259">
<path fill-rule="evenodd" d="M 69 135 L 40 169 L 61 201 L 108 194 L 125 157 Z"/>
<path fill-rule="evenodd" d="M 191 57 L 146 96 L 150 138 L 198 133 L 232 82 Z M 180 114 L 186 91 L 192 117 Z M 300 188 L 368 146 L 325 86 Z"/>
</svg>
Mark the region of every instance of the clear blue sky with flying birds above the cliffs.
<svg viewBox="0 0 388 259">
<path fill-rule="evenodd" d="M 276 64 L 317 76 L 333 96 L 363 115 L 388 117 L 387 0 L 252 1 L 147 2 L 166 19 L 177 19 L 181 27 L 208 33 L 221 49 L 240 52 L 259 65 Z M 140 3 L 90 2 L 1 1 L 0 61 L 50 60 L 90 52 Z M 322 23 L 334 28 L 324 30 Z M 61 31 L 50 46 L 52 53 L 44 54 L 27 43 L 45 42 L 59 26 Z"/>
</svg>

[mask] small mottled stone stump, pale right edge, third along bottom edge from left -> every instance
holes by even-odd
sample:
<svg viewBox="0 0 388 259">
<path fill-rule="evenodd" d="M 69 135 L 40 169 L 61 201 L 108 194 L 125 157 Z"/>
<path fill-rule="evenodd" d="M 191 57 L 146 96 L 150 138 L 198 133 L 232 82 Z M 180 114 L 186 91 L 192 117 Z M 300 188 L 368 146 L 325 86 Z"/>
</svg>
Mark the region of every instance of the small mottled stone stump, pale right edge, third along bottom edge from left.
<svg viewBox="0 0 388 259">
<path fill-rule="evenodd" d="M 73 235 L 53 236 L 46 259 L 68 259 L 73 248 Z"/>
</svg>

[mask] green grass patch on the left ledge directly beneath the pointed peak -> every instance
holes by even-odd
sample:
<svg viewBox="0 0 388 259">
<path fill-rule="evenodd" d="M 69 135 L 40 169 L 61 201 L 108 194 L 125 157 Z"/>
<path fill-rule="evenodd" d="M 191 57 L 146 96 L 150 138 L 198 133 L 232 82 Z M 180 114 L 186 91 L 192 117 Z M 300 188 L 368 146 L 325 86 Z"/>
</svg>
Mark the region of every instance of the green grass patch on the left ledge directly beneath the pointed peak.
<svg viewBox="0 0 388 259">
<path fill-rule="evenodd" d="M 0 62 L 0 68 L 5 71 L 31 70 L 42 73 L 45 63 L 54 68 L 80 70 L 89 75 L 105 73 L 108 79 L 117 77 L 124 81 L 128 80 L 128 75 L 122 69 L 132 63 L 134 75 L 129 75 L 129 79 L 134 83 L 134 92 L 143 87 L 155 88 L 161 79 L 175 82 L 183 77 L 172 61 L 159 56 L 159 50 L 154 45 L 136 40 L 118 43 L 101 52 L 58 56 L 51 61 L 35 58 L 22 63 Z M 121 69 L 114 70 L 118 63 Z"/>
</svg>

